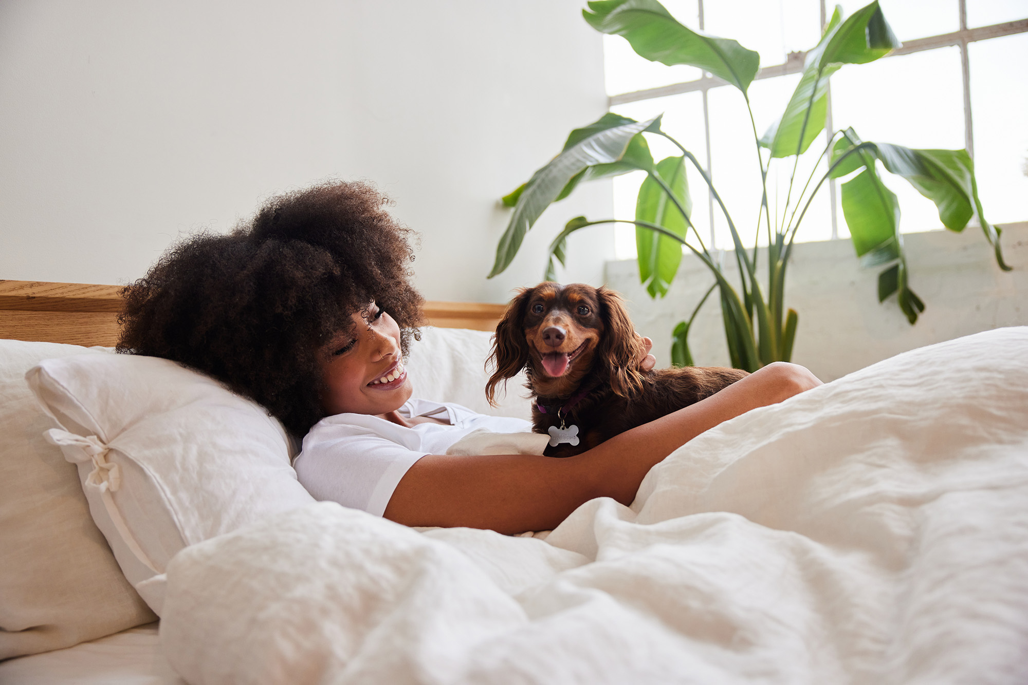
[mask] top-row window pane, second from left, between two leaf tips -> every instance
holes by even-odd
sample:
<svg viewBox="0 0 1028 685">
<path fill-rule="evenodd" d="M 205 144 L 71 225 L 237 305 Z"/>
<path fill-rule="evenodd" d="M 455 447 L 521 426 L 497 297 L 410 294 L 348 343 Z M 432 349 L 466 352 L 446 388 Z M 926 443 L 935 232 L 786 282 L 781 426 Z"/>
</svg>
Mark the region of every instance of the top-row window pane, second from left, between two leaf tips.
<svg viewBox="0 0 1028 685">
<path fill-rule="evenodd" d="M 809 50 L 820 38 L 819 0 L 733 0 L 703 4 L 706 33 L 733 38 L 761 53 L 761 66 L 780 65 L 788 52 Z"/>
</svg>

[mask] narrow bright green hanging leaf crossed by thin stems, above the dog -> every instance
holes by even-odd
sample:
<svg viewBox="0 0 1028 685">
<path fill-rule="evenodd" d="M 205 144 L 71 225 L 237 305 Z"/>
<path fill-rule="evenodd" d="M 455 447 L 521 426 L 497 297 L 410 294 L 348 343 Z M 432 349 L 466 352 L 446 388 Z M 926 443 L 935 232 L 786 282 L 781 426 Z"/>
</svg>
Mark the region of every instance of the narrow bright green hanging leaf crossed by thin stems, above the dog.
<svg viewBox="0 0 1028 685">
<path fill-rule="evenodd" d="M 692 213 L 692 198 L 686 179 L 686 158 L 668 157 L 657 163 L 653 174 L 671 189 L 678 203 Z M 648 176 L 639 186 L 635 202 L 635 219 L 657 224 L 686 238 L 689 225 L 677 205 L 668 197 L 653 176 Z M 650 297 L 664 297 L 682 262 L 682 243 L 666 235 L 636 227 L 635 248 L 638 255 L 639 282 L 645 283 Z"/>
</svg>

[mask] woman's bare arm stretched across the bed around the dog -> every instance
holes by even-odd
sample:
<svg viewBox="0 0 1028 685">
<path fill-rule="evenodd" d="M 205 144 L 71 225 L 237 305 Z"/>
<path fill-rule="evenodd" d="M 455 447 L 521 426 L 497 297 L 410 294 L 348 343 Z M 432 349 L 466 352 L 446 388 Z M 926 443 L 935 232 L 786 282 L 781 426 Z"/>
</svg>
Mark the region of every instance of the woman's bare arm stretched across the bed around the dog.
<svg viewBox="0 0 1028 685">
<path fill-rule="evenodd" d="M 805 368 L 775 363 L 706 399 L 566 459 L 524 454 L 421 457 L 400 481 L 384 517 L 408 526 L 548 530 L 594 497 L 631 503 L 647 472 L 680 446 L 723 421 L 816 385 L 820 381 Z"/>
</svg>

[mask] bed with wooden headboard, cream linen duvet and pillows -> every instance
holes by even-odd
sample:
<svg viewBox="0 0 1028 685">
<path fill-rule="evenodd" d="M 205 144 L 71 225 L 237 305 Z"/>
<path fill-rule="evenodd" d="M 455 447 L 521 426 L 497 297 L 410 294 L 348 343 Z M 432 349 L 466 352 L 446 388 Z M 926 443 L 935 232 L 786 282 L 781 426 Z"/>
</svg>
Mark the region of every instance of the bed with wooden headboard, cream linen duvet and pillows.
<svg viewBox="0 0 1028 685">
<path fill-rule="evenodd" d="M 500 309 L 430 304 L 415 392 L 485 409 Z M 39 652 L 0 662 L 2 682 L 1028 673 L 1028 329 L 749 412 L 654 467 L 630 506 L 503 536 L 313 501 L 259 408 L 110 354 L 116 310 L 113 287 L 0 281 L 0 646 Z M 490 411 L 527 405 L 514 384 Z"/>
</svg>

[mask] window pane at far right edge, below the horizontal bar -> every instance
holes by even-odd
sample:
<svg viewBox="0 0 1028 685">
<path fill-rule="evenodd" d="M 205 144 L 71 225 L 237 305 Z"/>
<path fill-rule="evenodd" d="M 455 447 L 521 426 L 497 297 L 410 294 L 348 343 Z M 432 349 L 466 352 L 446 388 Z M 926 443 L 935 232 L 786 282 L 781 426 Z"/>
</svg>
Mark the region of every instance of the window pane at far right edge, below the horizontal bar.
<svg viewBox="0 0 1028 685">
<path fill-rule="evenodd" d="M 1028 82 L 1011 65 L 1028 64 L 1028 34 L 970 43 L 975 176 L 985 218 L 1028 220 Z"/>
</svg>

